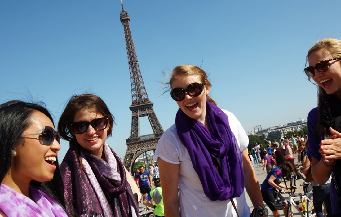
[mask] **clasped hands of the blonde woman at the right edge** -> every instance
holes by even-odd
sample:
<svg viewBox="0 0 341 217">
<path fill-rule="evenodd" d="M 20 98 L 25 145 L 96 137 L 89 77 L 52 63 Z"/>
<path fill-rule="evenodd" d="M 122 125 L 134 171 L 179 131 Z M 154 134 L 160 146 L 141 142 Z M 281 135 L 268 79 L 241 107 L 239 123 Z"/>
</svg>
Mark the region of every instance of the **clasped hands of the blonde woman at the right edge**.
<svg viewBox="0 0 341 217">
<path fill-rule="evenodd" d="M 341 159 L 341 133 L 329 128 L 330 132 L 333 134 L 328 140 L 322 140 L 320 143 L 320 149 L 318 150 L 324 162 L 328 164 L 335 163 L 335 160 Z"/>
</svg>

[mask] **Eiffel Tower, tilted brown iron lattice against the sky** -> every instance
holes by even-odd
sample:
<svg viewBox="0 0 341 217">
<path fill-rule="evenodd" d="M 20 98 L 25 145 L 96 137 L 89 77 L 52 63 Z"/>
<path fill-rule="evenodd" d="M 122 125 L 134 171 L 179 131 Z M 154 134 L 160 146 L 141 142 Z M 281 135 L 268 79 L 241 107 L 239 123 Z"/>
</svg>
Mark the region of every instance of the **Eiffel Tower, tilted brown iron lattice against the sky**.
<svg viewBox="0 0 341 217">
<path fill-rule="evenodd" d="M 130 18 L 128 12 L 124 11 L 123 9 L 122 0 L 121 5 L 122 12 L 120 13 L 120 20 L 123 25 L 125 45 L 127 47 L 132 98 L 132 104 L 129 107 L 129 109 L 132 111 L 131 129 L 129 139 L 126 140 L 128 147 L 124 156 L 123 165 L 125 167 L 131 168 L 131 171 L 133 171 L 132 167 L 136 158 L 145 151 L 155 150 L 164 131 L 153 110 L 154 103 L 150 102 L 147 95 L 145 84 L 143 82 L 140 67 L 137 61 L 133 37 L 130 32 Z M 139 118 L 146 116 L 148 116 L 153 133 L 148 135 L 140 135 Z M 148 165 L 146 166 L 148 167 Z"/>
</svg>

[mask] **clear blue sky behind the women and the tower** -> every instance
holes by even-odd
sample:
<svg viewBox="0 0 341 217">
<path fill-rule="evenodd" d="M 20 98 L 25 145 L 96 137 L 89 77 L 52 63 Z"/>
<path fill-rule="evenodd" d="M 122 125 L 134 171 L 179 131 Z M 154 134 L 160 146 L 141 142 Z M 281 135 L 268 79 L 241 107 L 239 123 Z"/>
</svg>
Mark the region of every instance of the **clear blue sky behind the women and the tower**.
<svg viewBox="0 0 341 217">
<path fill-rule="evenodd" d="M 177 104 L 162 72 L 202 65 L 210 95 L 246 131 L 306 119 L 316 87 L 303 73 L 315 40 L 340 36 L 340 1 L 124 0 L 154 111 L 164 130 Z M 120 0 L 0 0 L 0 102 L 44 101 L 57 124 L 73 94 L 100 96 L 116 118 L 119 156 L 130 134 L 131 89 Z M 27 97 L 27 95 L 32 97 Z M 141 134 L 151 133 L 142 119 Z M 61 143 L 59 159 L 69 145 Z"/>
</svg>

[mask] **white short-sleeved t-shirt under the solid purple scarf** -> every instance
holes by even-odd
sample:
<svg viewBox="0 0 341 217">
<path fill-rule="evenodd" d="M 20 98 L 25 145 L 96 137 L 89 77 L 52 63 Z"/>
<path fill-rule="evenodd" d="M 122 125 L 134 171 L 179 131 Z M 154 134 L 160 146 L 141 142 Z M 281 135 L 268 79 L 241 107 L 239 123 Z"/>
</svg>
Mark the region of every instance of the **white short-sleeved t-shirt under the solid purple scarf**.
<svg viewBox="0 0 341 217">
<path fill-rule="evenodd" d="M 226 110 L 222 110 L 227 116 L 229 125 L 236 137 L 240 151 L 244 151 L 249 145 L 249 138 L 238 119 Z M 162 160 L 180 164 L 179 169 L 179 206 L 180 216 L 189 217 L 236 217 L 236 211 L 230 200 L 211 201 L 204 193 L 203 186 L 195 172 L 191 157 L 187 148 L 181 143 L 175 124 L 167 129 L 161 136 L 155 151 L 154 160 Z M 169 171 L 172 175 L 172 171 Z M 249 217 L 250 208 L 246 203 L 245 191 L 240 197 L 233 199 L 238 210 L 239 217 Z"/>
</svg>

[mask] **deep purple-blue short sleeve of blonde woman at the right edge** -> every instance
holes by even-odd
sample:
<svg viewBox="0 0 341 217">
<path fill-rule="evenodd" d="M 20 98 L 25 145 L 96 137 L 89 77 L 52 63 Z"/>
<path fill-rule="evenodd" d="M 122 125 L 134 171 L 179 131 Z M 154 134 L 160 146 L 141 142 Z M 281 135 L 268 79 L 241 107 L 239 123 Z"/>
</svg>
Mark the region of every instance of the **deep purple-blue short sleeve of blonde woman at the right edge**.
<svg viewBox="0 0 341 217">
<path fill-rule="evenodd" d="M 320 160 L 322 155 L 318 152 L 320 149 L 320 142 L 322 141 L 322 135 L 318 136 L 318 138 L 314 138 L 314 131 L 318 120 L 318 109 L 315 107 L 312 109 L 307 118 L 307 126 L 308 126 L 308 145 L 307 145 L 307 154 L 308 158 L 311 161 L 311 157 L 316 160 Z"/>
</svg>

